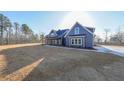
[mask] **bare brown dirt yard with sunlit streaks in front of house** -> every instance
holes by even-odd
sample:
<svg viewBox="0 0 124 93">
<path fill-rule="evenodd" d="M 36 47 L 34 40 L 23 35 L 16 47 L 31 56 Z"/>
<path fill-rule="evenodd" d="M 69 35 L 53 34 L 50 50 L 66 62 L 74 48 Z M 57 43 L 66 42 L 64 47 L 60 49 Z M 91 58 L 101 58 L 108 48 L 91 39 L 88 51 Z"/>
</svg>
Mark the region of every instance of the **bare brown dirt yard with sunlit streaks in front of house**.
<svg viewBox="0 0 124 93">
<path fill-rule="evenodd" d="M 0 80 L 124 80 L 124 57 L 39 43 L 0 46 Z"/>
</svg>

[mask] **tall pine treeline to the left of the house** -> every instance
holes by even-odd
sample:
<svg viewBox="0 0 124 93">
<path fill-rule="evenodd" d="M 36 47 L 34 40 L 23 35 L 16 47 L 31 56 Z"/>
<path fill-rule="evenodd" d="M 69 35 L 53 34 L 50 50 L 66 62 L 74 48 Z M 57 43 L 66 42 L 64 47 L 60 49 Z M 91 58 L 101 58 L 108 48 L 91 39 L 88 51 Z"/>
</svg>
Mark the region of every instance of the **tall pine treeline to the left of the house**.
<svg viewBox="0 0 124 93">
<path fill-rule="evenodd" d="M 17 44 L 40 42 L 41 36 L 34 34 L 28 24 L 12 23 L 11 20 L 0 14 L 0 44 Z M 43 39 L 43 34 L 42 34 Z"/>
</svg>

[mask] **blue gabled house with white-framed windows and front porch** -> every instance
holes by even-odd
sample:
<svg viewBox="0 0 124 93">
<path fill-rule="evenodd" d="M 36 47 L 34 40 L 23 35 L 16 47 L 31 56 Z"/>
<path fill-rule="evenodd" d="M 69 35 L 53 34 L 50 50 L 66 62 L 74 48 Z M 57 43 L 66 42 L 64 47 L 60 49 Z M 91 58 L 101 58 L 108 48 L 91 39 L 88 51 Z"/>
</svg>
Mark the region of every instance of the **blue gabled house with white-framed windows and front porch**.
<svg viewBox="0 0 124 93">
<path fill-rule="evenodd" d="M 95 28 L 76 22 L 71 29 L 51 30 L 45 42 L 48 45 L 93 48 L 94 31 Z"/>
</svg>

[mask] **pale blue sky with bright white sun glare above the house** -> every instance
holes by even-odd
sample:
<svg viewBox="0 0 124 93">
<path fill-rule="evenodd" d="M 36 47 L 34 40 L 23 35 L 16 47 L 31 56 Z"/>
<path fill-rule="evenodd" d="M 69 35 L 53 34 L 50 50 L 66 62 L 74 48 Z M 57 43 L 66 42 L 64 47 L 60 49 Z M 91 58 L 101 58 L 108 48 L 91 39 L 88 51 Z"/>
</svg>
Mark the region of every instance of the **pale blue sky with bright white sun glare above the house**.
<svg viewBox="0 0 124 93">
<path fill-rule="evenodd" d="M 0 12 L 12 22 L 26 23 L 35 33 L 48 34 L 52 29 L 67 29 L 78 21 L 84 26 L 95 27 L 95 34 L 103 37 L 104 29 L 110 29 L 110 34 L 118 26 L 124 25 L 124 12 L 64 12 L 64 11 L 9 11 Z"/>
</svg>

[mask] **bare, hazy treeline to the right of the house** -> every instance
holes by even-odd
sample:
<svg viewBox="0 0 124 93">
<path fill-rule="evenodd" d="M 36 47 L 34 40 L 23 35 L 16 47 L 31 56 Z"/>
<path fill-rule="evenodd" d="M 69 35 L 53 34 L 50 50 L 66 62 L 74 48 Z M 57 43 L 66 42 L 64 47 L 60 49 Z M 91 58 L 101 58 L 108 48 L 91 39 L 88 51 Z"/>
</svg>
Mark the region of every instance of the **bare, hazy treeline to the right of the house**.
<svg viewBox="0 0 124 93">
<path fill-rule="evenodd" d="M 96 44 L 124 45 L 124 25 L 118 26 L 115 31 L 104 29 L 104 39 L 98 35 L 94 36 Z"/>
</svg>

